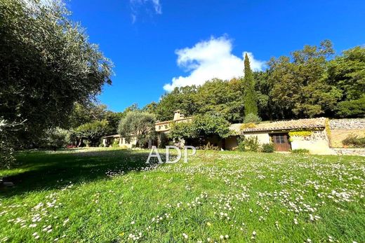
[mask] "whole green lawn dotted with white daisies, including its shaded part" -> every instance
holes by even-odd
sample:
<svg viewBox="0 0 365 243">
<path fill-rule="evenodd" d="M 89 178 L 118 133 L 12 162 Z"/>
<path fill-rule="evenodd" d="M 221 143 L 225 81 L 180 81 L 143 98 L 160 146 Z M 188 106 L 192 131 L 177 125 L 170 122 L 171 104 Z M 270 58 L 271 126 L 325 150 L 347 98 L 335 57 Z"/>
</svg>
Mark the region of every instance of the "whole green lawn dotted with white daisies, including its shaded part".
<svg viewBox="0 0 365 243">
<path fill-rule="evenodd" d="M 365 242 L 361 157 L 23 152 L 0 171 L 0 242 Z"/>
</svg>

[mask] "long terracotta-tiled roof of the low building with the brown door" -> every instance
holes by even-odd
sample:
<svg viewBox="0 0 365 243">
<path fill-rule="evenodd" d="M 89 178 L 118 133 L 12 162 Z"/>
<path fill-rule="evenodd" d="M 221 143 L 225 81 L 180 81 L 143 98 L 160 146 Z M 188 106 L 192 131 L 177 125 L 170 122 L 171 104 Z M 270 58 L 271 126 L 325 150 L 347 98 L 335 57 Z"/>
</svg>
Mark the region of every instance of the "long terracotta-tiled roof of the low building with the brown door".
<svg viewBox="0 0 365 243">
<path fill-rule="evenodd" d="M 291 129 L 305 129 L 325 127 L 326 118 L 308 118 L 298 120 L 280 120 L 270 123 L 259 123 L 256 127 L 246 128 L 242 132 L 255 131 L 271 131 L 271 130 L 291 130 Z"/>
</svg>

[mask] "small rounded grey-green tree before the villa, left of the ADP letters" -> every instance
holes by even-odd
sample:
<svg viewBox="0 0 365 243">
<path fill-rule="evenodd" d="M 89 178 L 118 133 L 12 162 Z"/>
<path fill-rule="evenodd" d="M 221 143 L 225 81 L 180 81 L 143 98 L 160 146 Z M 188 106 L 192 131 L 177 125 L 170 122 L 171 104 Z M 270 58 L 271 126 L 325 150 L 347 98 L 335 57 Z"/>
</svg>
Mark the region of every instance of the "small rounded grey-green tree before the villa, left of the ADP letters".
<svg viewBox="0 0 365 243">
<path fill-rule="evenodd" d="M 149 140 L 156 138 L 154 130 L 156 117 L 154 114 L 142 111 L 130 111 L 121 119 L 118 132 L 130 142 L 133 137 L 137 139 L 137 146 L 145 147 Z"/>
</svg>

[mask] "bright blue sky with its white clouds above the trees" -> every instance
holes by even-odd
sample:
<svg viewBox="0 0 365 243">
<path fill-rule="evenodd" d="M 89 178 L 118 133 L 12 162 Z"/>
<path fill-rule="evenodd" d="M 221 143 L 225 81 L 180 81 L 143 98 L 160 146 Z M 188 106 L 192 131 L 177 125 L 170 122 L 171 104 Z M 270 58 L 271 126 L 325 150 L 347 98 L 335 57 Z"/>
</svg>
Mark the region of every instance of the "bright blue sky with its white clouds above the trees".
<svg viewBox="0 0 365 243">
<path fill-rule="evenodd" d="M 241 74 L 270 57 L 330 39 L 339 54 L 365 43 L 365 1 L 71 0 L 72 19 L 114 62 L 100 102 L 140 107 L 179 85 Z M 241 67 L 242 66 L 242 67 Z"/>
</svg>

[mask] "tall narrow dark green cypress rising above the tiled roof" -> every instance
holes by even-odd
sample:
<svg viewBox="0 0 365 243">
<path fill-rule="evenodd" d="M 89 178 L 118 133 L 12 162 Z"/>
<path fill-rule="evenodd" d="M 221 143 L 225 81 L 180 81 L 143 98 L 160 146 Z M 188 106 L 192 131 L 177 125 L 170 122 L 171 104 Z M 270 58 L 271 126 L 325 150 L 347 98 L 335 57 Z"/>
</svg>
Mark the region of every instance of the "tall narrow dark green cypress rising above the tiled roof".
<svg viewBox="0 0 365 243">
<path fill-rule="evenodd" d="M 258 105 L 256 103 L 255 81 L 250 67 L 250 60 L 246 53 L 244 57 L 244 113 L 245 116 L 253 114 L 258 116 Z"/>
</svg>

